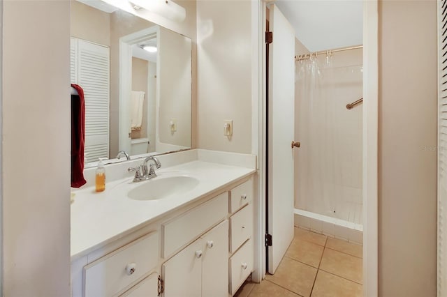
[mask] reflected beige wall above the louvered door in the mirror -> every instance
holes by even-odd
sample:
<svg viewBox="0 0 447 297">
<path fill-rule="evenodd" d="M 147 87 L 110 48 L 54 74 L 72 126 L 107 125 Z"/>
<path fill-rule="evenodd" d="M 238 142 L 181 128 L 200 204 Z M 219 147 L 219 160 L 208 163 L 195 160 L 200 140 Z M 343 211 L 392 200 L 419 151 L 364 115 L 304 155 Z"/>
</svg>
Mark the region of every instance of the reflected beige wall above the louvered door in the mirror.
<svg viewBox="0 0 447 297">
<path fill-rule="evenodd" d="M 110 46 L 110 14 L 79 1 L 70 2 L 71 36 Z"/>
</svg>

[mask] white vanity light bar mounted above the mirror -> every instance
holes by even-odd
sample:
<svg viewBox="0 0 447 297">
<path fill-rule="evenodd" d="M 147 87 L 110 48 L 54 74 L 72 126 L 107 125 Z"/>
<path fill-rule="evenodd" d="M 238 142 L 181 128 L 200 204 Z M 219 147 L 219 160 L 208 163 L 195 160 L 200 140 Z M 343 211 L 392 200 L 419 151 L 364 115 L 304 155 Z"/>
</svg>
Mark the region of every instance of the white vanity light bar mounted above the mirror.
<svg viewBox="0 0 447 297">
<path fill-rule="evenodd" d="M 176 22 L 183 22 L 186 18 L 186 10 L 171 0 L 129 0 L 132 6 L 145 8 L 151 13 L 156 13 L 162 17 Z"/>
</svg>

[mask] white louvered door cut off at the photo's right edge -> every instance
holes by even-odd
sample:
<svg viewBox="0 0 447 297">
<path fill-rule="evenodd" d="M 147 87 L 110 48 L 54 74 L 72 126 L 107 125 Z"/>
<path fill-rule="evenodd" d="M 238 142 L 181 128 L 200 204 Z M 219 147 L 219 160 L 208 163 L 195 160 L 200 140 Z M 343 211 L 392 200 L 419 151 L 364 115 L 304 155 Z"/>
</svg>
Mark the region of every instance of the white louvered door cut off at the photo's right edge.
<svg viewBox="0 0 447 297">
<path fill-rule="evenodd" d="M 438 296 L 447 296 L 447 0 L 438 4 Z"/>
</svg>

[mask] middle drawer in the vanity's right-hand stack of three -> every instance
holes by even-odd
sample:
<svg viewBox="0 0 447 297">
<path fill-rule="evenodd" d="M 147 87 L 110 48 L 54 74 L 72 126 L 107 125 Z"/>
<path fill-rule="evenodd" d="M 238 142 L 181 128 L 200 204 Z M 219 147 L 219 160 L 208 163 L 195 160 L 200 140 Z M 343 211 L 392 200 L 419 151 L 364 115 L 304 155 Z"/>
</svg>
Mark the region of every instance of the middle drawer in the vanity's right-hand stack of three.
<svg viewBox="0 0 447 297">
<path fill-rule="evenodd" d="M 230 218 L 230 252 L 247 241 L 253 234 L 253 204 L 244 206 Z"/>
</svg>

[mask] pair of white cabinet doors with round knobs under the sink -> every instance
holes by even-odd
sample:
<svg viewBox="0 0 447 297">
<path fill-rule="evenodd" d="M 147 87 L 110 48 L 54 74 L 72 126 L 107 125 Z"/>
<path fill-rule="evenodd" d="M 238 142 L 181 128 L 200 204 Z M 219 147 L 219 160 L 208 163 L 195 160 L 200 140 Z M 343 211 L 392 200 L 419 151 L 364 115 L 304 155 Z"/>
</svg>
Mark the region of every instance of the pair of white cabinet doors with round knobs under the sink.
<svg viewBox="0 0 447 297">
<path fill-rule="evenodd" d="M 165 297 L 227 297 L 228 220 L 221 222 L 162 266 Z"/>
</svg>

